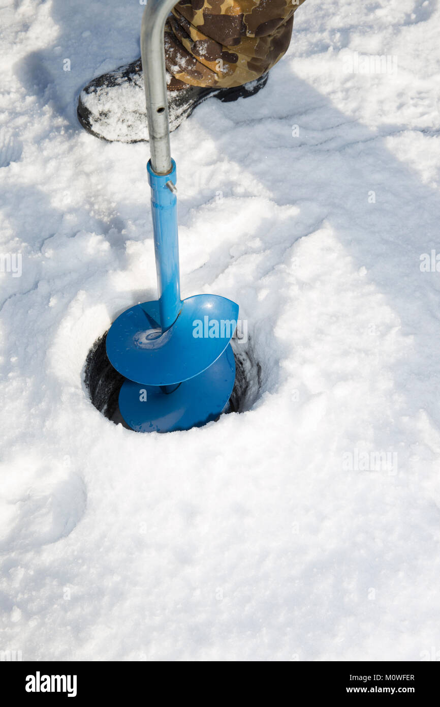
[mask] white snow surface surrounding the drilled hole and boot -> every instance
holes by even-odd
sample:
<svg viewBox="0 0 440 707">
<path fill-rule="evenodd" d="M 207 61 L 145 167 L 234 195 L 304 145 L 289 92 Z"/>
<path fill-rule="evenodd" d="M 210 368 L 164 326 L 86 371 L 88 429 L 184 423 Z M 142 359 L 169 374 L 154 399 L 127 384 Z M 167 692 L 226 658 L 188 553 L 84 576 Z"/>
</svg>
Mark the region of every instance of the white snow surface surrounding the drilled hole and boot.
<svg viewBox="0 0 440 707">
<path fill-rule="evenodd" d="M 1 254 L 23 257 L 0 275 L 0 649 L 439 657 L 439 5 L 307 0 L 267 87 L 172 135 L 183 294 L 239 303 L 261 390 L 162 436 L 83 384 L 95 339 L 155 297 L 148 146 L 75 115 L 138 57 L 142 10 L 0 3 Z M 355 52 L 398 71 L 347 73 Z"/>
</svg>

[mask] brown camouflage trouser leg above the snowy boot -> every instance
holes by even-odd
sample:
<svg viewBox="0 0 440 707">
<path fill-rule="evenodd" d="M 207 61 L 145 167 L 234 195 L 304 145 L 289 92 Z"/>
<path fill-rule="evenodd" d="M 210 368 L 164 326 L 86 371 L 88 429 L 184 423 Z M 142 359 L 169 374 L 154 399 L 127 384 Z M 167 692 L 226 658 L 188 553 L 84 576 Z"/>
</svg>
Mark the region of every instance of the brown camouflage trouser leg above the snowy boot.
<svg viewBox="0 0 440 707">
<path fill-rule="evenodd" d="M 182 0 L 165 27 L 170 74 L 193 86 L 230 88 L 276 64 L 304 0 Z"/>
</svg>

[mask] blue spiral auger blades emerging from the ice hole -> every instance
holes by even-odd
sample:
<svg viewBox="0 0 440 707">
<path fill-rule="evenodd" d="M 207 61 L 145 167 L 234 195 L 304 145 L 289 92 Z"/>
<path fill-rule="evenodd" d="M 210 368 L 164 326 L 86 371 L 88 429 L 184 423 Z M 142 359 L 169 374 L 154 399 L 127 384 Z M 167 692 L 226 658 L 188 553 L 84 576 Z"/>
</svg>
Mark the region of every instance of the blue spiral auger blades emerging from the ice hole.
<svg viewBox="0 0 440 707">
<path fill-rule="evenodd" d="M 157 322 L 159 305 L 126 310 L 107 334 L 109 361 L 127 379 L 119 410 L 138 432 L 205 425 L 220 416 L 234 387 L 230 339 L 238 305 L 216 295 L 189 297 L 165 332 Z"/>
</svg>

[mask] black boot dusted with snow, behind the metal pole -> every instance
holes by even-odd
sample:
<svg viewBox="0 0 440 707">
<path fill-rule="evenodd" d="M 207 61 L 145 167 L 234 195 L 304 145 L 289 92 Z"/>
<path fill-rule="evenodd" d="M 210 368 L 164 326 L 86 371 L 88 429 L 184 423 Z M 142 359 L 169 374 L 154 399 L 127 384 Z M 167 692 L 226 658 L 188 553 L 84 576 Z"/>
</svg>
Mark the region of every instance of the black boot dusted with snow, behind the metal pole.
<svg viewBox="0 0 440 707">
<path fill-rule="evenodd" d="M 170 79 L 168 110 L 172 132 L 210 96 L 223 102 L 247 98 L 266 86 L 268 74 L 234 88 L 200 88 L 188 84 L 187 88 L 173 90 L 175 79 L 171 76 Z M 88 83 L 79 97 L 78 120 L 87 132 L 108 142 L 148 141 L 141 59 Z"/>
</svg>

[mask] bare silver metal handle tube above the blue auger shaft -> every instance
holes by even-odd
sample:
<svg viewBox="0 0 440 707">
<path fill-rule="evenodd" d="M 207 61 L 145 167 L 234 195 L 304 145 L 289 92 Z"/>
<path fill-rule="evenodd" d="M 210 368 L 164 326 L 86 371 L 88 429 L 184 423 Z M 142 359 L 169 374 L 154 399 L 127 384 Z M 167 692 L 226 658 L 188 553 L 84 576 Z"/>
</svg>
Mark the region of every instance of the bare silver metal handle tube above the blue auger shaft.
<svg viewBox="0 0 440 707">
<path fill-rule="evenodd" d="M 150 159 L 158 175 L 172 169 L 165 73 L 164 28 L 177 0 L 148 0 L 141 27 L 141 54 L 147 104 Z"/>
</svg>

